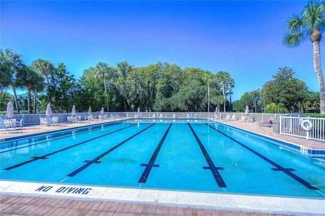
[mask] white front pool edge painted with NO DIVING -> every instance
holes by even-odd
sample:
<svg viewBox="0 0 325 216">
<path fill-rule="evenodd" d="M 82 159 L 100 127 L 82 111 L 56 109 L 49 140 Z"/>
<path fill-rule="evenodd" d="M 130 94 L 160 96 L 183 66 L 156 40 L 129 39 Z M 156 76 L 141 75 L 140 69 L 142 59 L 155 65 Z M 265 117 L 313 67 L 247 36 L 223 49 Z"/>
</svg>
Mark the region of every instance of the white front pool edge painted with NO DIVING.
<svg viewBox="0 0 325 216">
<path fill-rule="evenodd" d="M 324 199 L 0 181 L 0 194 L 126 202 L 268 214 L 325 215 Z"/>
</svg>

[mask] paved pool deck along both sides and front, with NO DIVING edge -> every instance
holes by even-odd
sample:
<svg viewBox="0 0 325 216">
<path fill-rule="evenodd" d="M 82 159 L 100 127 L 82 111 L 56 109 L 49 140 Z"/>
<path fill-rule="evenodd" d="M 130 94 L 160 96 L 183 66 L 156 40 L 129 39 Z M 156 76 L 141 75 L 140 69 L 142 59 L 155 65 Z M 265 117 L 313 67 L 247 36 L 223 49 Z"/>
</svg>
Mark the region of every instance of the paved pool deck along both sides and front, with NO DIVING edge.
<svg viewBox="0 0 325 216">
<path fill-rule="evenodd" d="M 105 120 L 109 122 L 114 120 Z M 272 127 L 255 123 L 218 120 L 238 128 L 296 143 L 311 149 L 325 149 L 325 142 L 273 133 Z M 22 133 L 0 133 L 0 138 L 28 135 L 65 127 L 24 126 Z M 325 215 L 325 199 L 250 196 L 225 193 L 194 193 L 163 190 L 141 190 L 88 187 L 91 192 L 63 192 L 60 184 L 0 182 L 1 215 Z M 79 186 L 86 189 L 85 186 Z M 39 190 L 38 190 L 39 189 Z M 89 190 L 89 189 L 88 189 Z"/>
</svg>

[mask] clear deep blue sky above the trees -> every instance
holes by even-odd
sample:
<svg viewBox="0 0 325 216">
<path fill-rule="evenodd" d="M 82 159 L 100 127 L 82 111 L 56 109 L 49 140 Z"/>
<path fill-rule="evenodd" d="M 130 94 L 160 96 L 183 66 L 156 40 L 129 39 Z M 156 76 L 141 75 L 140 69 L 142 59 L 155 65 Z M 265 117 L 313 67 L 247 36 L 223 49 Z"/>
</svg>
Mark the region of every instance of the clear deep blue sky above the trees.
<svg viewBox="0 0 325 216">
<path fill-rule="evenodd" d="M 76 78 L 105 61 L 135 66 L 169 62 L 181 68 L 229 71 L 233 100 L 290 67 L 319 91 L 312 44 L 281 45 L 285 20 L 305 1 L 1 1 L 1 49 L 26 64 L 63 62 Z M 322 69 L 325 42 L 321 41 Z M 19 92 L 23 93 L 23 92 Z"/>
</svg>

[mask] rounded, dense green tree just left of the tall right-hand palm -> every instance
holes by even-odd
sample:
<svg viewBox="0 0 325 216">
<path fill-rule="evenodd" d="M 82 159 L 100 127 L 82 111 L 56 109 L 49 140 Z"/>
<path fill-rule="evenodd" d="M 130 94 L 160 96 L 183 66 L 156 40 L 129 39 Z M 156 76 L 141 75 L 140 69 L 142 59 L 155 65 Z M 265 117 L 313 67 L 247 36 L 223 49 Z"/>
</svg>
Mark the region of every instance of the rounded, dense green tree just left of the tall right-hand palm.
<svg viewBox="0 0 325 216">
<path fill-rule="evenodd" d="M 282 103 L 287 110 L 295 106 L 298 101 L 306 99 L 308 89 L 305 82 L 294 78 L 295 72 L 288 67 L 279 68 L 273 79 L 264 84 L 261 94 L 265 103 Z"/>
</svg>

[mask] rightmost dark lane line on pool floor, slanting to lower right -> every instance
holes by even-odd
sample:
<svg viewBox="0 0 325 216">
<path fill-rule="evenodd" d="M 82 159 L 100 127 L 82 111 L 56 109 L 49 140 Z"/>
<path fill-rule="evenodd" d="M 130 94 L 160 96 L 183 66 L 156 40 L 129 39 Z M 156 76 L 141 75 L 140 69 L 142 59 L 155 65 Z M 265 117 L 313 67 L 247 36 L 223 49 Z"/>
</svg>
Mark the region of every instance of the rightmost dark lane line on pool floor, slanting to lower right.
<svg viewBox="0 0 325 216">
<path fill-rule="evenodd" d="M 207 125 L 207 124 L 206 124 Z M 208 125 L 209 127 L 213 128 L 214 130 L 218 131 L 219 133 L 221 133 L 222 135 L 230 138 L 231 140 L 237 142 L 239 145 L 241 145 L 242 147 L 244 147 L 245 149 L 249 150 L 250 152 L 252 152 L 253 154 L 257 155 L 258 157 L 262 158 L 263 160 L 265 160 L 266 162 L 272 164 L 273 166 L 275 166 L 276 168 L 271 168 L 274 171 L 282 171 L 285 174 L 289 175 L 291 178 L 294 178 L 297 182 L 301 183 L 302 185 L 306 186 L 307 188 L 309 188 L 310 190 L 319 190 L 318 188 L 311 186 L 310 183 L 308 183 L 306 180 L 302 179 L 301 177 L 299 177 L 298 175 L 292 173 L 291 171 L 296 171 L 293 168 L 284 168 L 281 165 L 275 163 L 274 161 L 270 160 L 269 158 L 259 154 L 258 152 L 256 152 L 255 150 L 252 150 L 251 148 L 249 148 L 248 146 L 245 146 L 243 143 L 241 143 L 240 141 L 237 141 L 236 139 L 234 139 L 233 137 L 228 136 L 227 134 L 217 130 L 216 128 Z"/>
</svg>

